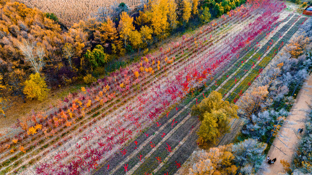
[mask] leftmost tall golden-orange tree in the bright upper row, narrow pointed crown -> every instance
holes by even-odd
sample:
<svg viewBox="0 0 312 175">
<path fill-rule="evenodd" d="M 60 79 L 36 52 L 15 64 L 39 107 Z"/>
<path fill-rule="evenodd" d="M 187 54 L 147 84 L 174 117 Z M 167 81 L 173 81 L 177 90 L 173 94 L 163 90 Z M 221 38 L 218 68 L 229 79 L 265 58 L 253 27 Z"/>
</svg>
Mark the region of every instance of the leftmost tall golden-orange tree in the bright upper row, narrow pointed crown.
<svg viewBox="0 0 312 175">
<path fill-rule="evenodd" d="M 130 17 L 127 12 L 122 12 L 120 15 L 118 30 L 121 38 L 125 40 L 125 47 L 127 45 L 128 36 L 134 29 L 133 17 Z"/>
</svg>

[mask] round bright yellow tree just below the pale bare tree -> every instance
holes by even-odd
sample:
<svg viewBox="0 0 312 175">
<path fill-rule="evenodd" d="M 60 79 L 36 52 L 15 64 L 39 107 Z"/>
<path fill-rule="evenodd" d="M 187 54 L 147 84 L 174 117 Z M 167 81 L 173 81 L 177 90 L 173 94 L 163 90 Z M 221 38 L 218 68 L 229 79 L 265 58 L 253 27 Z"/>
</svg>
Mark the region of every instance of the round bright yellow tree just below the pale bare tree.
<svg viewBox="0 0 312 175">
<path fill-rule="evenodd" d="M 40 76 L 39 73 L 31 74 L 29 80 L 24 82 L 23 92 L 26 94 L 27 98 L 36 98 L 39 101 L 43 101 L 47 98 L 50 89 L 47 88 L 47 84 L 44 78 Z"/>
</svg>

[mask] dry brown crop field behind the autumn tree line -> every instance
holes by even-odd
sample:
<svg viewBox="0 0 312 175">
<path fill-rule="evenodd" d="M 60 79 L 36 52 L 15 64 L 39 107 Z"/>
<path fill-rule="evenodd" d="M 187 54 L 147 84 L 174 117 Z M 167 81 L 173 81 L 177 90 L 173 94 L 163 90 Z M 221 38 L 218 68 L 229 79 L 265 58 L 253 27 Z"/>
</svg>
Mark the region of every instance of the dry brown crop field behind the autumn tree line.
<svg viewBox="0 0 312 175">
<path fill-rule="evenodd" d="M 100 7 L 111 10 L 111 6 L 125 2 L 129 8 L 141 4 L 142 0 L 17 0 L 45 13 L 54 13 L 67 27 L 80 20 L 94 16 Z"/>
</svg>

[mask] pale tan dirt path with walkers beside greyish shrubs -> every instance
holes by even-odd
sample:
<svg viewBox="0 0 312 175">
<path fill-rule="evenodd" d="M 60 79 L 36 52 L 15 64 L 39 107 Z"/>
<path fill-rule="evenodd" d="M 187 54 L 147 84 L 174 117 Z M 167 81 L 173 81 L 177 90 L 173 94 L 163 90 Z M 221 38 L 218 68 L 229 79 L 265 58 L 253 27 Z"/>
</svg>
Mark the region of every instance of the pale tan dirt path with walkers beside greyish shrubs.
<svg viewBox="0 0 312 175">
<path fill-rule="evenodd" d="M 300 89 L 296 99 L 296 103 L 292 108 L 292 115 L 286 118 L 285 123 L 280 129 L 280 136 L 275 138 L 273 145 L 271 146 L 268 156 L 277 158 L 275 164 L 269 166 L 266 172 L 260 172 L 262 175 L 277 175 L 279 172 L 283 172 L 283 166 L 280 163 L 281 159 L 292 162 L 294 152 L 298 146 L 300 134 L 298 134 L 298 128 L 304 128 L 304 121 L 306 118 L 308 104 L 312 101 L 312 75 L 305 81 L 305 85 Z M 305 130 L 303 131 L 305 132 Z M 280 150 L 282 151 L 280 151 Z"/>
</svg>

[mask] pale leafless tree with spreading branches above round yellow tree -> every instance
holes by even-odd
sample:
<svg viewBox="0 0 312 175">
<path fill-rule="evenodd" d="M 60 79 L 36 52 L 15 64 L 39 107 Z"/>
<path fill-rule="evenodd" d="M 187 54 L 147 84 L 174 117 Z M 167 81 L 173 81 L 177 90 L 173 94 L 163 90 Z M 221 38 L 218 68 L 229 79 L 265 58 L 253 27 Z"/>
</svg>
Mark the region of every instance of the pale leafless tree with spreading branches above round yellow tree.
<svg viewBox="0 0 312 175">
<path fill-rule="evenodd" d="M 25 56 L 26 61 L 29 61 L 36 73 L 43 68 L 43 58 L 45 56 L 44 49 L 41 46 L 36 46 L 34 42 L 29 42 L 23 39 L 18 42 L 18 49 Z"/>
</svg>

